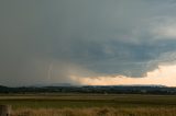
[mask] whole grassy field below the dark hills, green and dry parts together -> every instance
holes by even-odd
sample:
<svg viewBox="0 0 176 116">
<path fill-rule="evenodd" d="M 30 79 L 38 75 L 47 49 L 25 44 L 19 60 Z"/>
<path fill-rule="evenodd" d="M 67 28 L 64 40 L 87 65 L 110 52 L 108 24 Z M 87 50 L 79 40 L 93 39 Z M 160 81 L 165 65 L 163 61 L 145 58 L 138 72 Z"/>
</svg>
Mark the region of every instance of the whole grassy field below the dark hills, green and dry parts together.
<svg viewBox="0 0 176 116">
<path fill-rule="evenodd" d="M 13 116 L 176 116 L 175 95 L 9 94 Z"/>
</svg>

